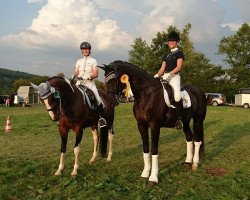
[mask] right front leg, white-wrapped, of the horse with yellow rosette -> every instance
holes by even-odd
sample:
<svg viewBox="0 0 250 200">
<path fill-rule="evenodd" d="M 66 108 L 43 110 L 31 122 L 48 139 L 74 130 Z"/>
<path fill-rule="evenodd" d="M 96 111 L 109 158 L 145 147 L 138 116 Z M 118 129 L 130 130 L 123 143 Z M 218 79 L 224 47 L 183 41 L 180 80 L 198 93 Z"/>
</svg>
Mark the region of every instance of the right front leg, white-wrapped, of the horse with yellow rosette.
<svg viewBox="0 0 250 200">
<path fill-rule="evenodd" d="M 154 186 L 158 183 L 158 143 L 160 136 L 160 127 L 153 126 L 151 128 L 151 153 L 152 153 L 152 169 L 149 177 L 149 186 Z"/>
</svg>

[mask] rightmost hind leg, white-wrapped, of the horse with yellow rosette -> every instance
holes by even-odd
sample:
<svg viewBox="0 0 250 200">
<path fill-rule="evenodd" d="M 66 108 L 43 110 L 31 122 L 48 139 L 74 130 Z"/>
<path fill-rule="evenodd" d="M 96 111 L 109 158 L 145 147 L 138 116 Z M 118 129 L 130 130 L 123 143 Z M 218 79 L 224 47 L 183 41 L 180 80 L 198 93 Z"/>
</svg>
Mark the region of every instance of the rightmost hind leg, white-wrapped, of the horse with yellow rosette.
<svg viewBox="0 0 250 200">
<path fill-rule="evenodd" d="M 204 132 L 203 132 L 203 121 L 199 121 L 194 119 L 194 157 L 193 157 L 193 165 L 192 170 L 196 171 L 198 169 L 198 163 L 200 160 L 200 148 L 204 140 Z M 204 151 L 204 148 L 202 147 Z"/>
</svg>

